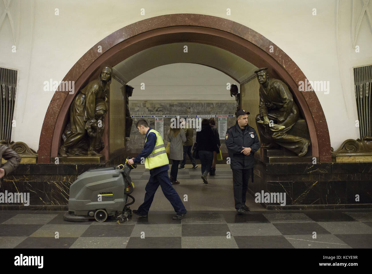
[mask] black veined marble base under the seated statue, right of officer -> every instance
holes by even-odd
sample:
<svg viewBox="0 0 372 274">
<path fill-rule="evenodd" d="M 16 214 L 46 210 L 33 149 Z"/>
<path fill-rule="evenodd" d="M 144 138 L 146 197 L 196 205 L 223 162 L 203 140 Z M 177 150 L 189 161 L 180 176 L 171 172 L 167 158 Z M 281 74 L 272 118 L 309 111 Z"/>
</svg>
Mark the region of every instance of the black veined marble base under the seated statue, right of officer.
<svg viewBox="0 0 372 274">
<path fill-rule="evenodd" d="M 282 193 L 285 201 L 266 200 L 267 209 L 371 208 L 372 163 L 265 163 L 256 159 L 256 193 Z M 258 195 L 257 195 L 258 196 Z M 260 195 L 260 197 L 262 194 Z M 256 202 L 261 202 L 258 200 Z"/>
</svg>

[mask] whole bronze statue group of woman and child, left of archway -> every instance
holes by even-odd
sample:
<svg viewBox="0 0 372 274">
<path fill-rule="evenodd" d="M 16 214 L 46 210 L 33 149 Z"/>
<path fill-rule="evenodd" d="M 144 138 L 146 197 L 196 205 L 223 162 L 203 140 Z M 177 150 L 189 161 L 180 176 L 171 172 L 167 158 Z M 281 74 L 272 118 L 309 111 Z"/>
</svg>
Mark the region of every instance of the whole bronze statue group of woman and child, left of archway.
<svg viewBox="0 0 372 274">
<path fill-rule="evenodd" d="M 62 134 L 63 144 L 58 150 L 68 155 L 102 156 L 103 117 L 108 111 L 108 95 L 112 69 L 104 67 L 97 80 L 89 82 L 75 97 L 70 106 L 70 122 Z"/>
</svg>

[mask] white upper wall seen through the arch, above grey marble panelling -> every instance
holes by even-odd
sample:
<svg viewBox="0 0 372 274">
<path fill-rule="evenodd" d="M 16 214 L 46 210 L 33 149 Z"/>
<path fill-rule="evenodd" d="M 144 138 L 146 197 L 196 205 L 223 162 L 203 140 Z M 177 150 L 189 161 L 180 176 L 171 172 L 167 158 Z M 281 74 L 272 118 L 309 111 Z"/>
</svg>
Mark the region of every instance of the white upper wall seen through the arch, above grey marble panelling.
<svg viewBox="0 0 372 274">
<path fill-rule="evenodd" d="M 141 83 L 145 84 L 144 90 L 141 90 Z M 227 83 L 239 86 L 230 76 L 214 68 L 188 63 L 169 64 L 153 68 L 129 81 L 128 85 L 134 87 L 129 100 L 235 102 L 235 97 L 231 97 L 230 90 L 227 90 Z"/>
</svg>

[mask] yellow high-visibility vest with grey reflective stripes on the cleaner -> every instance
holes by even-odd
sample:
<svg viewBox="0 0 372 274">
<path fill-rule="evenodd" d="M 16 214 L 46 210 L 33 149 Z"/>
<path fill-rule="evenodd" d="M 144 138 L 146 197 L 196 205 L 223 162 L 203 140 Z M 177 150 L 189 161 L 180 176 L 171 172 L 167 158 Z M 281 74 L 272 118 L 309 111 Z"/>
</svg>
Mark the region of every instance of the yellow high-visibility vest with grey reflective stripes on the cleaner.
<svg viewBox="0 0 372 274">
<path fill-rule="evenodd" d="M 153 169 L 159 166 L 169 165 L 169 160 L 167 153 L 165 151 L 165 146 L 163 142 L 163 138 L 161 138 L 160 133 L 156 130 L 151 129 L 148 134 L 151 132 L 156 134 L 156 143 L 154 150 L 151 152 L 149 156 L 145 158 L 145 168 Z M 147 136 L 148 136 L 147 134 Z M 147 137 L 145 142 L 147 141 Z"/>
</svg>

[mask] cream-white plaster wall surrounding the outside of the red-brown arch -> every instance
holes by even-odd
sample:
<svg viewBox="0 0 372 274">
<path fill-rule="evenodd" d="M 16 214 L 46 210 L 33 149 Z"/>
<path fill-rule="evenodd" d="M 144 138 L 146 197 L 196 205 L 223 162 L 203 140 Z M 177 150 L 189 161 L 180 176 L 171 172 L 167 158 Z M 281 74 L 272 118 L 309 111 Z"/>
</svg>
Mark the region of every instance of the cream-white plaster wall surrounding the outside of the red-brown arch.
<svg viewBox="0 0 372 274">
<path fill-rule="evenodd" d="M 359 17 L 362 6 L 354 6 L 354 14 Z M 11 51 L 13 38 L 6 17 L 0 26 L 0 66 L 19 70 L 14 117 L 17 126 L 12 138 L 26 142 L 32 149 L 38 149 L 45 112 L 53 96 L 53 92 L 43 90 L 44 81 L 62 80 L 85 52 L 112 32 L 171 13 L 230 19 L 270 39 L 309 80 L 330 81 L 330 93 L 317 95 L 327 119 L 331 146 L 337 149 L 347 138 L 359 137 L 352 67 L 372 63 L 372 31 L 365 15 L 357 42 L 360 52 L 355 53 L 351 0 L 21 0 L 20 16 L 15 7 L 10 12 L 20 23 L 17 52 Z M 58 16 L 55 8 L 59 9 Z M 144 16 L 140 15 L 141 8 L 145 9 Z M 231 16 L 226 15 L 227 8 Z M 317 9 L 316 16 L 312 15 L 313 8 Z M 3 10 L 0 3 L 0 14 Z"/>
</svg>

